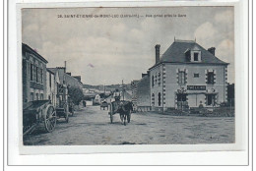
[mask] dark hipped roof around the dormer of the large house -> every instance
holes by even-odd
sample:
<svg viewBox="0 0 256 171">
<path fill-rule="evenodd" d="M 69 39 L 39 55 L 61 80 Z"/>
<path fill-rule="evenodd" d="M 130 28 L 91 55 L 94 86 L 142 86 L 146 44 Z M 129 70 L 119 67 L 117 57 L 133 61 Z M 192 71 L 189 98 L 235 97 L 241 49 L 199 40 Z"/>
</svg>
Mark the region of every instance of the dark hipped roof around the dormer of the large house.
<svg viewBox="0 0 256 171">
<path fill-rule="evenodd" d="M 169 48 L 161 55 L 160 62 L 155 64 L 153 67 L 160 63 L 193 63 L 186 59 L 185 53 L 189 50 L 200 50 L 201 51 L 201 62 L 197 64 L 220 64 L 227 65 L 224 61 L 217 58 L 211 52 L 206 50 L 204 47 L 199 45 L 193 40 L 175 40 Z M 152 67 L 152 68 L 153 68 Z"/>
</svg>

